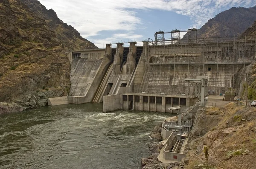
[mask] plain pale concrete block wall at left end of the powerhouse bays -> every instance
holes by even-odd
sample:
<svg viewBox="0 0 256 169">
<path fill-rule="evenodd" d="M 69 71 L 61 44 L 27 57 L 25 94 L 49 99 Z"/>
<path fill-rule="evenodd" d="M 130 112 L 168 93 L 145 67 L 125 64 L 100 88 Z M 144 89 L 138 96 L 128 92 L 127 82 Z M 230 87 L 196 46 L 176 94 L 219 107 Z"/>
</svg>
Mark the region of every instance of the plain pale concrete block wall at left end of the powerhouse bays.
<svg viewBox="0 0 256 169">
<path fill-rule="evenodd" d="M 111 112 L 122 108 L 122 95 L 103 96 L 103 112 Z"/>
</svg>

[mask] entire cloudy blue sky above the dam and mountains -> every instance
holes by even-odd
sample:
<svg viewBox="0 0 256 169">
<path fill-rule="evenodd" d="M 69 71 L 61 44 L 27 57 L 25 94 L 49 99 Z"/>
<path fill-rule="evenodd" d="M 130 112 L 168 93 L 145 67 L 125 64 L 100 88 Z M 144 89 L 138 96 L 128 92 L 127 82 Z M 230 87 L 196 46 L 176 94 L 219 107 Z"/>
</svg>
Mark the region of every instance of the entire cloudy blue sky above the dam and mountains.
<svg viewBox="0 0 256 169">
<path fill-rule="evenodd" d="M 221 11 L 256 0 L 39 0 L 99 48 L 154 39 L 156 31 L 201 28 Z M 183 37 L 183 34 L 180 34 Z M 114 47 L 114 45 L 113 45 Z"/>
</svg>

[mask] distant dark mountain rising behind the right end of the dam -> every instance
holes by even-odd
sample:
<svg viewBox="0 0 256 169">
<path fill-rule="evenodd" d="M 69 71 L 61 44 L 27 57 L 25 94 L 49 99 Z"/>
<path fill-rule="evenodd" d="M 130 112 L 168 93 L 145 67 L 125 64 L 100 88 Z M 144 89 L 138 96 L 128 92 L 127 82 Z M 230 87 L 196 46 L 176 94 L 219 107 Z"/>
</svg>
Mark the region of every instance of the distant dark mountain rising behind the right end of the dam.
<svg viewBox="0 0 256 169">
<path fill-rule="evenodd" d="M 256 6 L 230 8 L 217 14 L 198 29 L 198 38 L 240 35 L 256 21 Z M 185 35 L 186 38 L 186 35 Z"/>
</svg>

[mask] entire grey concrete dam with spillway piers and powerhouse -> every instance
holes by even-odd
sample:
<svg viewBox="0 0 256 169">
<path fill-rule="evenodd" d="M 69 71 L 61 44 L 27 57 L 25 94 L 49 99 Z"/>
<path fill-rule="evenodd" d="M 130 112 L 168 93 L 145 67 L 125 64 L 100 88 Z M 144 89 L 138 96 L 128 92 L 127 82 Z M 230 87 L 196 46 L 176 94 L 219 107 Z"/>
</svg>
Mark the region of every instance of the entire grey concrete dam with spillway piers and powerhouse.
<svg viewBox="0 0 256 169">
<path fill-rule="evenodd" d="M 207 76 L 206 91 L 219 95 L 238 87 L 234 74 L 256 57 L 256 41 L 248 37 L 166 39 L 157 33 L 143 46 L 129 42 L 129 47 L 117 43 L 116 48 L 107 44 L 105 49 L 70 52 L 70 94 L 50 98 L 48 104 L 103 102 L 104 112 L 187 108 L 198 101 L 199 87 L 186 78 Z"/>
</svg>

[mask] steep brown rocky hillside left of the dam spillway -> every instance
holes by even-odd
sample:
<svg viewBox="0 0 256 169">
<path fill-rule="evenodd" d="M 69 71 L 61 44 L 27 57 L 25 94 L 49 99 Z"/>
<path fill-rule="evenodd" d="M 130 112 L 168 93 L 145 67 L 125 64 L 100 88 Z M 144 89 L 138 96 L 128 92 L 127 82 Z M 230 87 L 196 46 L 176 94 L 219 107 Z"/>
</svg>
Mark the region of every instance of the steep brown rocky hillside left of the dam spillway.
<svg viewBox="0 0 256 169">
<path fill-rule="evenodd" d="M 37 0 L 1 0 L 0 11 L 0 114 L 67 95 L 65 53 L 96 46 Z"/>
</svg>

